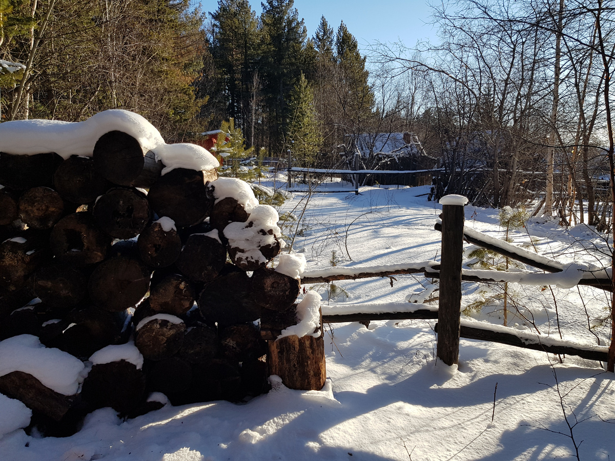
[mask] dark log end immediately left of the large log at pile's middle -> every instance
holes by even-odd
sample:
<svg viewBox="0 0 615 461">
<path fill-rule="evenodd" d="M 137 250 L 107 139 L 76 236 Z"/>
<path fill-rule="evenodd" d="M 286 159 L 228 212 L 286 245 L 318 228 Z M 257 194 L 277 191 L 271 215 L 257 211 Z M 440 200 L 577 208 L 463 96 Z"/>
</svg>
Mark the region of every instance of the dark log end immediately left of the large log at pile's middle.
<svg viewBox="0 0 615 461">
<path fill-rule="evenodd" d="M 33 275 L 34 294 L 52 307 L 74 307 L 87 297 L 87 276 L 77 267 L 53 264 Z"/>
</svg>

